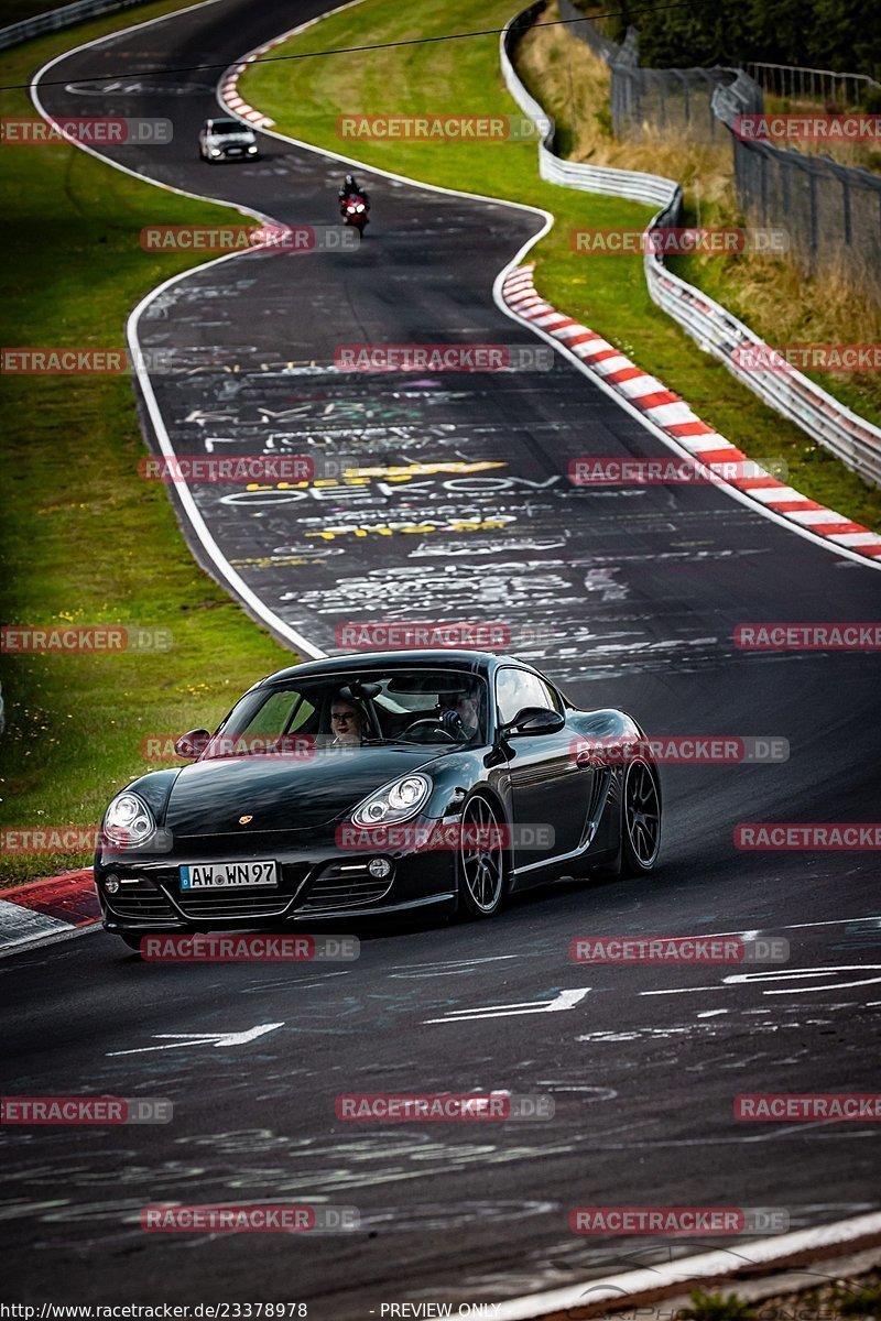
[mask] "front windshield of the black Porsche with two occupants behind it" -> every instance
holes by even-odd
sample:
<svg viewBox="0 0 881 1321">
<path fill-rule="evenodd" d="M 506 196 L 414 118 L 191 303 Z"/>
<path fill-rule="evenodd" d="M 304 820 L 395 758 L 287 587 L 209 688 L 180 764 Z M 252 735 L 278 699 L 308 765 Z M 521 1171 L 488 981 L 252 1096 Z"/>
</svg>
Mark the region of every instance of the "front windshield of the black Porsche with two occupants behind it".
<svg viewBox="0 0 881 1321">
<path fill-rule="evenodd" d="M 478 675 L 365 666 L 247 694 L 213 737 L 203 760 L 420 744 L 441 752 L 485 742 L 486 728 L 486 683 Z"/>
</svg>

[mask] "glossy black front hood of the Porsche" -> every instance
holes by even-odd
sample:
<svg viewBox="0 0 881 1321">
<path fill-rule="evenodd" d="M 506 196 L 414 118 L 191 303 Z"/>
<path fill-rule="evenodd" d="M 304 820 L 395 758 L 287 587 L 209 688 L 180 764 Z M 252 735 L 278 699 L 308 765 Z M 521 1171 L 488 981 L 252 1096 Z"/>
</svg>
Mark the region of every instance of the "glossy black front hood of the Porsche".
<svg viewBox="0 0 881 1321">
<path fill-rule="evenodd" d="M 310 757 L 219 757 L 185 766 L 165 826 L 174 835 L 313 830 L 346 815 L 370 793 L 429 765 L 425 748 L 328 748 Z M 248 816 L 244 824 L 240 816 Z"/>
</svg>

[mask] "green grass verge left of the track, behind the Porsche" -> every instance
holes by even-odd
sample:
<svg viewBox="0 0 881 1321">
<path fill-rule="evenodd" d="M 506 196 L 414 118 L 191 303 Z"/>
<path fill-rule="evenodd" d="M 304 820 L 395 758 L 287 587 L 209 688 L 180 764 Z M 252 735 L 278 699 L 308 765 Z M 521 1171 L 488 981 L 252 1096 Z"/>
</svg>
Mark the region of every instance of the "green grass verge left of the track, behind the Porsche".
<svg viewBox="0 0 881 1321">
<path fill-rule="evenodd" d="M 0 82 L 26 82 L 52 55 L 156 15 L 153 4 L 15 48 Z M 24 91 L 0 114 L 30 116 Z M 201 258 L 139 246 L 147 222 L 229 223 L 230 210 L 178 197 L 67 144 L 7 148 L 0 326 L 7 346 L 122 347 L 131 308 Z M 291 654 L 193 561 L 145 453 L 125 376 L 0 379 L 5 441 L 0 618 L 7 625 L 136 624 L 170 630 L 170 651 L 3 655 L 0 741 L 5 827 L 88 827 L 108 797 L 155 769 L 141 738 L 217 724 Z M 87 853 L 0 849 L 0 882 L 91 861 Z"/>
</svg>

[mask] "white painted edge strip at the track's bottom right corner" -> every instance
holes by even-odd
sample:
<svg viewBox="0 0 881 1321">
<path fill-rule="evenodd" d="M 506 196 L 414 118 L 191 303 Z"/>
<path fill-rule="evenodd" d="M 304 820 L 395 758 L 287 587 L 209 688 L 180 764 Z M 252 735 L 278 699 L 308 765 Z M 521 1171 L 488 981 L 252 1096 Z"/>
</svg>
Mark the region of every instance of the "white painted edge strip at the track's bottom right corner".
<svg viewBox="0 0 881 1321">
<path fill-rule="evenodd" d="M 539 1321 L 542 1317 L 608 1316 L 609 1310 L 631 1310 L 635 1304 L 654 1303 L 684 1292 L 688 1288 L 711 1287 L 715 1283 L 732 1285 L 733 1277 L 744 1273 L 754 1279 L 762 1269 L 833 1259 L 857 1244 L 877 1243 L 881 1238 L 881 1213 L 855 1215 L 848 1221 L 819 1225 L 811 1230 L 779 1234 L 753 1243 L 738 1243 L 716 1252 L 678 1258 L 658 1266 L 622 1275 L 610 1275 L 582 1284 L 569 1284 L 531 1297 L 502 1303 L 494 1313 L 495 1321 Z M 655 1312 L 655 1316 L 659 1316 Z"/>
</svg>

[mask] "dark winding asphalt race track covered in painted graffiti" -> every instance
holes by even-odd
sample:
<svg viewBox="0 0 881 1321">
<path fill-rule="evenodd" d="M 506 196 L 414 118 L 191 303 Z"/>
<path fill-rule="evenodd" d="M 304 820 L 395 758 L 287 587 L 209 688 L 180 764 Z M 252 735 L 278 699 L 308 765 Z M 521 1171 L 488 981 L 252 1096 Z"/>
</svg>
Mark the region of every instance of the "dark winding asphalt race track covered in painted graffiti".
<svg viewBox="0 0 881 1321">
<path fill-rule="evenodd" d="M 54 115 L 173 119 L 170 145 L 114 153 L 145 177 L 333 223 L 339 162 L 272 137 L 258 162 L 199 162 L 221 69 L 136 74 L 231 63 L 324 8 L 217 0 L 66 58 L 49 74 L 66 83 L 40 95 Z M 793 1229 L 878 1206 L 872 1124 L 732 1118 L 738 1092 L 873 1086 L 877 855 L 742 852 L 732 832 L 877 819 L 877 658 L 742 653 L 732 633 L 874 621 L 881 573 L 717 487 L 571 487 L 575 457 L 667 452 L 561 358 L 479 375 L 329 370 L 338 343 L 539 343 L 491 297 L 536 215 L 363 174 L 374 211 L 358 251 L 248 254 L 147 306 L 145 350 L 246 369 L 152 374 L 174 449 L 499 466 L 374 476 L 358 502 L 194 487 L 223 555 L 325 651 L 350 621 L 501 621 L 582 705 L 625 707 L 651 733 L 785 737 L 790 758 L 664 768 L 650 881 L 563 884 L 485 925 L 365 923 L 355 963 L 151 966 L 103 933 L 0 962 L 4 1092 L 174 1103 L 162 1125 L 0 1129 L 7 1292 L 21 1301 L 306 1301 L 309 1316 L 355 1321 L 383 1303 L 498 1303 L 720 1242 L 580 1238 L 575 1206 L 771 1206 Z M 742 931 L 786 937 L 790 962 L 568 956 L 576 935 Z M 229 1045 L 160 1037 L 265 1025 Z M 556 1114 L 335 1119 L 339 1092 L 384 1090 L 542 1094 Z M 361 1229 L 153 1242 L 139 1223 L 162 1201 L 285 1199 L 358 1207 Z"/>
</svg>

